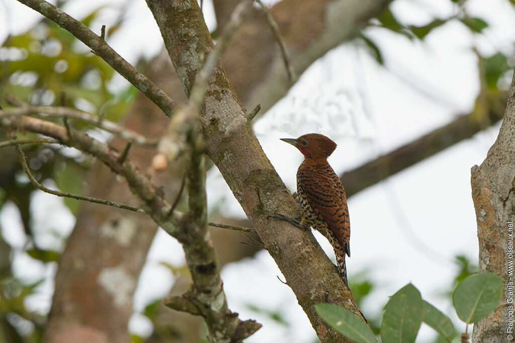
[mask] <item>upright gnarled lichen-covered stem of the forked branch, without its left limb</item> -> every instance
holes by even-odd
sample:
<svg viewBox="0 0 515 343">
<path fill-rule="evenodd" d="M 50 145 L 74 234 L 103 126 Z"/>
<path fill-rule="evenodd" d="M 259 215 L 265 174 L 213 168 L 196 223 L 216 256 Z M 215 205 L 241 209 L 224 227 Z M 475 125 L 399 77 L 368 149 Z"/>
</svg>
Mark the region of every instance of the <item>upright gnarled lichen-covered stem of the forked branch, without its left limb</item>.
<svg viewBox="0 0 515 343">
<path fill-rule="evenodd" d="M 207 323 L 210 341 L 240 341 L 261 328 L 254 320 L 241 321 L 227 305 L 219 273 L 218 259 L 208 236 L 207 199 L 205 195 L 204 155 L 197 132 L 190 135 L 193 147 L 188 168 L 189 211 L 181 220 L 182 234 L 178 236 L 184 247 L 193 284 L 185 294 L 169 298 L 166 304 L 176 310 L 201 315 Z M 241 336 L 239 327 L 247 327 Z"/>
</svg>

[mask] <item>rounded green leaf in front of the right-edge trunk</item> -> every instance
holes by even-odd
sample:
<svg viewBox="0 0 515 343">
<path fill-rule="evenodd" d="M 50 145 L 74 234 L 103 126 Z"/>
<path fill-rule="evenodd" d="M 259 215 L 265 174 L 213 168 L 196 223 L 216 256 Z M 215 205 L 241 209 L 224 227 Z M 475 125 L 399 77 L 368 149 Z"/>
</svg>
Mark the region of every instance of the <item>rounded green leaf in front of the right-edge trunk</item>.
<svg viewBox="0 0 515 343">
<path fill-rule="evenodd" d="M 496 273 L 479 273 L 463 280 L 454 290 L 453 303 L 459 319 L 477 323 L 501 301 L 504 284 Z"/>
</svg>

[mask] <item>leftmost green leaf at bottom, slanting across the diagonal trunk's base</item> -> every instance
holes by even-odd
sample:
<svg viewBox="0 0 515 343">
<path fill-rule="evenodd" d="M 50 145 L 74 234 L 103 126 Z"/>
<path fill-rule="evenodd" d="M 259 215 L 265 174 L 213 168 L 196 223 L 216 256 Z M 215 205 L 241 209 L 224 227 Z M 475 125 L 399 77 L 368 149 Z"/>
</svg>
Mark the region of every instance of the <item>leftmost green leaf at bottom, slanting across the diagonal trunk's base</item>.
<svg viewBox="0 0 515 343">
<path fill-rule="evenodd" d="M 346 308 L 334 304 L 316 304 L 315 310 L 338 332 L 357 343 L 377 342 L 367 324 Z"/>
</svg>

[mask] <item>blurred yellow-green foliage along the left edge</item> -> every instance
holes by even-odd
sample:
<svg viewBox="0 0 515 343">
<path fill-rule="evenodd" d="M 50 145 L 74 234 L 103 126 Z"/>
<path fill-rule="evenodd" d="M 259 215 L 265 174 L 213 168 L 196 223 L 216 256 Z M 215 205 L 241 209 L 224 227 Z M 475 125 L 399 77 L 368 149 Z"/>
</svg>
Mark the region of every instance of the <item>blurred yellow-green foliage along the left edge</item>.
<svg viewBox="0 0 515 343">
<path fill-rule="evenodd" d="M 90 25 L 102 8 L 89 13 L 82 22 Z M 110 27 L 108 33 L 114 33 L 118 27 Z M 9 107 L 4 98 L 10 94 L 32 105 L 74 107 L 116 122 L 130 106 L 136 90 L 132 86 L 111 89 L 109 83 L 114 75 L 106 62 L 84 49 L 71 33 L 42 19 L 26 32 L 9 36 L 0 46 L 0 105 Z M 55 122 L 62 124 L 58 119 Z M 71 125 L 91 129 L 84 123 Z M 29 132 L 16 135 L 20 139 L 36 137 Z M 0 131 L 0 141 L 8 139 L 10 136 Z M 23 149 L 32 174 L 40 182 L 52 179 L 60 190 L 82 194 L 90 165 L 88 158 L 56 145 L 25 145 Z M 21 170 L 14 148 L 0 149 L 0 160 L 0 210 L 8 201 L 18 208 L 26 239 L 22 248 L 11 247 L 0 235 L 0 342 L 41 342 L 45 315 L 30 310 L 26 303 L 29 296 L 41 291 L 38 287 L 43 280 L 26 283 L 11 270 L 12 263 L 22 255 L 43 265 L 55 263 L 60 251 L 36 244 L 34 232 L 38 223 L 32 222 L 30 210 L 35 188 Z M 75 213 L 79 202 L 64 199 L 64 203 Z M 0 229 L 5 232 L 7 228 Z"/>
</svg>

